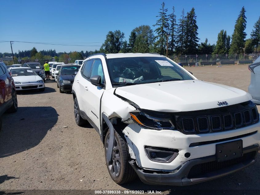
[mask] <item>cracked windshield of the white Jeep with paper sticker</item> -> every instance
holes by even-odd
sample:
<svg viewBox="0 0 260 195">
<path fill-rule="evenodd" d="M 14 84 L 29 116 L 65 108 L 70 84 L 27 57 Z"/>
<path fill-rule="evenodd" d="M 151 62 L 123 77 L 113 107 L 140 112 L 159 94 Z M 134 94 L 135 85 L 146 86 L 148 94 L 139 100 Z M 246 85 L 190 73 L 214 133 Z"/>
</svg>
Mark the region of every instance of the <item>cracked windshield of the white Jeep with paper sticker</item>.
<svg viewBox="0 0 260 195">
<path fill-rule="evenodd" d="M 107 65 L 115 85 L 193 79 L 179 65 L 165 57 L 111 58 L 107 59 Z"/>
</svg>

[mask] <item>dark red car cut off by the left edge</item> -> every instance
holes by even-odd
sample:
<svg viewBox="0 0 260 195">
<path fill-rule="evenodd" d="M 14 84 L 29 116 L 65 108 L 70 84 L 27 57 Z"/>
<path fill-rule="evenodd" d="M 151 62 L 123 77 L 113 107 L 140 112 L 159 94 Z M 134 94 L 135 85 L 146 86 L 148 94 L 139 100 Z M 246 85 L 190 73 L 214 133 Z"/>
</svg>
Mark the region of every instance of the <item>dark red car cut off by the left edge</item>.
<svg viewBox="0 0 260 195">
<path fill-rule="evenodd" d="M 4 112 L 16 112 L 18 108 L 14 79 L 10 76 L 6 65 L 0 62 L 0 131 L 1 116 Z"/>
</svg>

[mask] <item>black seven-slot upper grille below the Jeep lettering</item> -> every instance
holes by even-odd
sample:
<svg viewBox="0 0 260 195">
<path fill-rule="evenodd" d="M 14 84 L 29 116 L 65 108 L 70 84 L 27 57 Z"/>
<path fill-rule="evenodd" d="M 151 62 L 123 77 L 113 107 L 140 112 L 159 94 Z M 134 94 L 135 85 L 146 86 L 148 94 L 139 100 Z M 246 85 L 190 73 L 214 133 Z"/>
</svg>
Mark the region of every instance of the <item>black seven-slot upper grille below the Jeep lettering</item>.
<svg viewBox="0 0 260 195">
<path fill-rule="evenodd" d="M 251 101 L 205 111 L 183 112 L 175 117 L 177 128 L 185 134 L 227 131 L 259 120 L 258 110 Z"/>
</svg>

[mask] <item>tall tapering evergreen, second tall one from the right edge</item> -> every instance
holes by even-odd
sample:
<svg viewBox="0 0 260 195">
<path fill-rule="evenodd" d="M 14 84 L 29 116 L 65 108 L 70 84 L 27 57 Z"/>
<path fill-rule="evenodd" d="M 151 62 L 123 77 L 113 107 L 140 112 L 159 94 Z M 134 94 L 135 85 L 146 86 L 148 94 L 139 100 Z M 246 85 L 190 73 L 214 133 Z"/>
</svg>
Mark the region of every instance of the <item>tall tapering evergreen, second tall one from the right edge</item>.
<svg viewBox="0 0 260 195">
<path fill-rule="evenodd" d="M 243 18 L 242 16 L 235 24 L 234 33 L 232 34 L 232 41 L 230 45 L 229 54 L 239 54 L 243 53 L 243 49 L 240 47 L 244 47 L 244 34 L 243 34 Z"/>
</svg>

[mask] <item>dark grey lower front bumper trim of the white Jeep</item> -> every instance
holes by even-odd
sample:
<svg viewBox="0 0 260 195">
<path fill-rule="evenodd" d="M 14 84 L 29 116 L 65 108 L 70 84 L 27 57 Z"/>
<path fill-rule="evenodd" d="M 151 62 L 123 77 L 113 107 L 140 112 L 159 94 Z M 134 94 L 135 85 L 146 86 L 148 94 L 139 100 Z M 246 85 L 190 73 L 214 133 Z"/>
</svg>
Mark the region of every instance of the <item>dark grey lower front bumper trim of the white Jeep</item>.
<svg viewBox="0 0 260 195">
<path fill-rule="evenodd" d="M 200 183 L 203 181 L 209 181 L 218 177 L 223 177 L 228 174 L 234 173 L 238 170 L 244 169 L 252 164 L 255 163 L 254 158 L 256 157 L 258 153 L 258 144 L 254 144 L 252 146 L 248 146 L 246 148 L 243 148 L 243 156 L 240 157 L 241 160 L 238 161 L 238 163 L 234 164 L 234 160 L 228 160 L 224 161 L 222 163 L 219 163 L 217 166 L 221 167 L 222 169 L 216 169 L 216 166 L 211 168 L 213 169 L 210 172 L 206 172 L 203 174 L 199 174 L 200 172 L 196 169 L 196 166 L 201 165 L 201 169 L 204 170 L 207 169 L 207 166 L 216 165 L 216 156 L 205 156 L 202 158 L 192 159 L 187 161 L 186 163 L 182 164 L 178 169 L 171 170 L 171 171 L 152 171 L 152 170 L 145 170 L 141 169 L 135 164 L 134 160 L 130 161 L 130 165 L 133 167 L 135 172 L 137 173 L 138 177 L 141 179 L 142 182 L 146 184 L 153 184 L 153 185 L 192 185 L 196 183 Z M 227 166 L 228 163 L 232 164 L 231 166 Z M 207 165 L 207 164 L 212 165 Z M 215 168 L 215 170 L 214 170 Z M 197 175 L 194 174 L 197 171 Z M 154 173 L 152 173 L 154 172 Z M 192 174 L 190 174 L 192 173 Z"/>
</svg>

